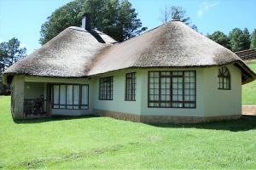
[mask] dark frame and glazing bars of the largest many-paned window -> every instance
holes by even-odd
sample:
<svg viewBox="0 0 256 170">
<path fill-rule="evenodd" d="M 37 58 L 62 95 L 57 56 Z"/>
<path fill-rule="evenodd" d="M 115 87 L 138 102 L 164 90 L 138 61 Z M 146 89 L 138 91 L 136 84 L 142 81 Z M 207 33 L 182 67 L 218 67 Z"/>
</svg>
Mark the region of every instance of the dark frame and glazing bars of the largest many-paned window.
<svg viewBox="0 0 256 170">
<path fill-rule="evenodd" d="M 153 77 L 150 77 L 150 72 L 158 72 L 158 75 L 159 75 L 159 77 L 158 78 L 153 78 Z M 170 73 L 170 75 L 169 76 L 161 76 L 161 72 L 169 72 Z M 177 75 L 177 76 L 173 76 L 173 72 L 182 72 L 182 75 Z M 186 72 L 186 71 L 148 71 L 148 108 L 181 108 L 181 109 L 195 109 L 196 108 L 196 71 L 192 71 L 192 72 L 194 72 L 194 82 L 185 82 L 184 81 L 184 72 Z M 189 72 L 189 71 L 188 71 Z M 190 75 L 190 73 L 189 73 L 189 75 Z M 155 76 L 155 75 L 154 75 Z M 162 88 L 161 88 L 161 81 L 160 81 L 160 79 L 162 78 L 162 77 L 168 77 L 168 78 L 170 78 L 170 87 L 169 88 L 166 88 L 166 89 L 169 89 L 170 90 L 170 94 L 168 94 L 169 96 L 170 96 L 170 100 L 169 101 L 166 101 L 166 100 L 161 100 L 161 90 L 162 90 Z M 173 96 L 173 89 L 176 89 L 176 88 L 173 88 L 173 82 L 172 82 L 172 78 L 173 77 L 182 77 L 182 79 L 183 79 L 183 88 L 182 88 L 182 90 L 183 90 L 183 94 L 182 94 L 182 98 L 183 98 L 183 100 L 182 101 L 177 101 L 177 100 L 172 100 L 172 96 Z M 158 82 L 158 87 L 159 88 L 150 88 L 150 78 L 153 78 L 154 79 L 154 81 L 156 81 L 156 83 Z M 190 76 L 189 76 L 189 78 L 190 78 Z M 157 80 L 158 79 L 158 80 Z M 189 88 L 185 88 L 185 83 L 189 83 Z M 194 88 L 190 88 L 190 83 L 194 83 Z M 153 82 L 153 84 L 154 84 L 154 82 Z M 178 86 L 177 86 L 178 87 Z M 156 93 L 156 94 L 153 94 L 153 96 L 155 95 L 156 97 L 158 96 L 158 100 L 150 100 L 150 95 L 152 95 L 152 94 L 150 94 L 150 90 L 153 90 L 154 91 L 154 89 L 158 89 L 158 93 Z M 178 89 L 178 88 L 177 88 Z M 189 91 L 189 98 L 190 98 L 190 95 L 193 95 L 194 96 L 194 101 L 185 101 L 184 100 L 184 98 L 185 98 L 185 93 L 184 93 L 184 91 L 185 91 L 185 89 L 189 89 L 189 90 L 193 90 L 194 89 L 194 94 L 190 94 L 190 91 Z M 178 95 L 178 94 L 177 94 Z M 167 94 L 166 94 L 166 96 L 167 96 Z M 158 105 L 157 106 L 152 106 L 152 105 L 150 105 L 150 102 L 151 103 L 157 103 L 158 102 Z M 168 103 L 168 104 L 170 104 L 170 106 L 161 106 L 160 105 L 160 103 Z M 173 104 L 182 104 L 183 106 L 182 107 L 179 107 L 179 106 L 173 106 Z M 190 105 L 190 104 L 192 104 L 192 105 L 194 105 L 194 106 L 185 106 L 185 104 L 187 104 L 187 105 Z"/>
</svg>

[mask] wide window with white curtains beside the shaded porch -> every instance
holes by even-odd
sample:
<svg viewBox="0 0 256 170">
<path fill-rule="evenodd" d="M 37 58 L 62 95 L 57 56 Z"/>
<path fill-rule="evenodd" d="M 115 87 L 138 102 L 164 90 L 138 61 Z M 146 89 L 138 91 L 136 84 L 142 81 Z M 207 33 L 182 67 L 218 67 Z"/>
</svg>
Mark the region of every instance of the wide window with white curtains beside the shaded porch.
<svg viewBox="0 0 256 170">
<path fill-rule="evenodd" d="M 89 109 L 89 86 L 55 84 L 52 86 L 53 109 Z"/>
</svg>

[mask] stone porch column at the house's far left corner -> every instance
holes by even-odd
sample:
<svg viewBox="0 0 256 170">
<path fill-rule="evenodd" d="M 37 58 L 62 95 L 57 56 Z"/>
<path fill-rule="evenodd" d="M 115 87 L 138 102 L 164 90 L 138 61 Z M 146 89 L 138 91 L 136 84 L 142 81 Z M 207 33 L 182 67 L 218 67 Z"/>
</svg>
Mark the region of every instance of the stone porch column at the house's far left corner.
<svg viewBox="0 0 256 170">
<path fill-rule="evenodd" d="M 16 76 L 15 83 L 15 114 L 14 119 L 24 118 L 24 77 Z"/>
</svg>

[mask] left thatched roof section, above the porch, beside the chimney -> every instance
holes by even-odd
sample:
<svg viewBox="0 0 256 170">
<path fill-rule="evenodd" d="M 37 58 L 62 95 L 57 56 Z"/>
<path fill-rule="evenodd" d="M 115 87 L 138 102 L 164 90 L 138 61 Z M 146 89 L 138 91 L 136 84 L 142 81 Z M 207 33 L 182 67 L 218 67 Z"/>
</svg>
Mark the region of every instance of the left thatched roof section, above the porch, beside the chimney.
<svg viewBox="0 0 256 170">
<path fill-rule="evenodd" d="M 4 74 L 84 77 L 102 48 L 115 42 L 100 31 L 69 27 L 42 48 L 10 66 Z"/>
</svg>

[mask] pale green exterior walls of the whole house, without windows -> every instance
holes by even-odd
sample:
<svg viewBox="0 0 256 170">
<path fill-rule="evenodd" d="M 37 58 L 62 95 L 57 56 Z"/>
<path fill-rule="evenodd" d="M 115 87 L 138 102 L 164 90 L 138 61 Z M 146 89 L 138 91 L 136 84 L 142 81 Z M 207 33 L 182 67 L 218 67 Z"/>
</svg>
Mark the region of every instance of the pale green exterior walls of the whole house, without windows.
<svg viewBox="0 0 256 170">
<path fill-rule="evenodd" d="M 241 71 L 228 65 L 231 90 L 218 89 L 218 66 L 190 69 L 129 69 L 88 78 L 15 77 L 13 85 L 17 110 L 23 109 L 19 99 L 26 83 L 45 82 L 89 84 L 89 110 L 52 110 L 52 115 L 80 116 L 93 114 L 94 109 L 143 116 L 225 116 L 241 114 Z M 148 71 L 196 71 L 196 108 L 148 108 Z M 136 101 L 125 101 L 125 74 L 137 72 Z M 99 78 L 113 76 L 113 100 L 99 99 Z M 23 81 L 23 84 L 22 84 Z M 19 84 L 18 84 L 19 83 Z M 45 93 L 44 93 L 45 94 Z M 26 96 L 27 97 L 27 96 Z M 19 109 L 19 110 L 20 110 Z M 21 110 L 20 110 L 21 111 Z"/>
</svg>

